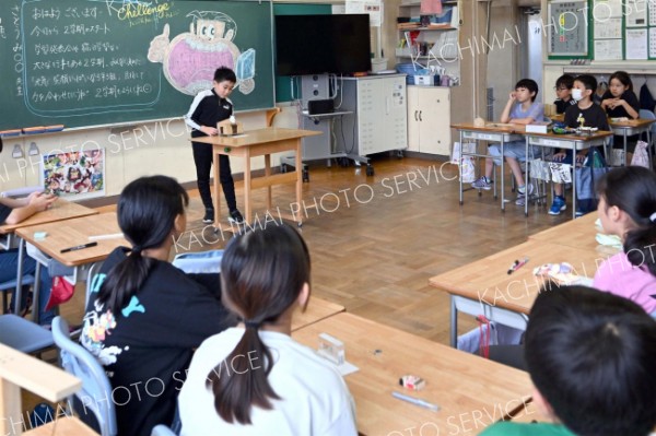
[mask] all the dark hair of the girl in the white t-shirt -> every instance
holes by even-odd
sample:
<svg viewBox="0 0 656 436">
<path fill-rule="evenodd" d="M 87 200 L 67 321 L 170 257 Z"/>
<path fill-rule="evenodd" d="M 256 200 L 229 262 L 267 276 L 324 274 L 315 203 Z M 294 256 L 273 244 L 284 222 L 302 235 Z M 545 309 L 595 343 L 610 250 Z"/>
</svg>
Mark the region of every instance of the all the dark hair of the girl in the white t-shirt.
<svg viewBox="0 0 656 436">
<path fill-rule="evenodd" d="M 251 409 L 272 409 L 279 397 L 268 376 L 274 362 L 259 337 L 309 285 L 309 252 L 293 227 L 282 224 L 244 233 L 227 244 L 221 261 L 221 288 L 229 307 L 245 320 L 235 349 L 208 375 L 214 409 L 227 423 L 250 424 Z"/>
</svg>

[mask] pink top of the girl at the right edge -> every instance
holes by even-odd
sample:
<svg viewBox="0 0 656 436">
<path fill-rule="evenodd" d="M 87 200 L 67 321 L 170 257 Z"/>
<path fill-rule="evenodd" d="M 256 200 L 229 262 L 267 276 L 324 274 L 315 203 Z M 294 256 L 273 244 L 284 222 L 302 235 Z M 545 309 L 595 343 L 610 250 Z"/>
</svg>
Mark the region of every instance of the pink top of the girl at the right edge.
<svg viewBox="0 0 656 436">
<path fill-rule="evenodd" d="M 599 266 L 593 286 L 629 298 L 647 314 L 656 313 L 656 297 L 652 296 L 656 296 L 656 276 L 646 268 L 632 266 L 623 251 Z"/>
</svg>

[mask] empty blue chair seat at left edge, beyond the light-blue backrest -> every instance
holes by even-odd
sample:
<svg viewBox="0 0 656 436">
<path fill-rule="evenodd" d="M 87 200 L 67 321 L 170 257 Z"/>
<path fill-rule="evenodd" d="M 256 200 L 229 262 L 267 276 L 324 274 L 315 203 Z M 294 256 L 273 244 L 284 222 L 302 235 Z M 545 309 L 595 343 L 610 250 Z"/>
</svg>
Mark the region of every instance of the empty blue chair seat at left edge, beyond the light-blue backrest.
<svg viewBox="0 0 656 436">
<path fill-rule="evenodd" d="M 0 316 L 0 343 L 28 354 L 55 345 L 49 330 L 14 314 Z"/>
</svg>

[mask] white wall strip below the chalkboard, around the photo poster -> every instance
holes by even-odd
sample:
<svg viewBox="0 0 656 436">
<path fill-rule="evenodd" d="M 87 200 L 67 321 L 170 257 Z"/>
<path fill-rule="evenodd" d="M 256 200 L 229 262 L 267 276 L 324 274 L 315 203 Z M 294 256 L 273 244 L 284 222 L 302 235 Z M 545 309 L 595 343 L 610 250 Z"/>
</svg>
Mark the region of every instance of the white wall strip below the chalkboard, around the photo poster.
<svg viewBox="0 0 656 436">
<path fill-rule="evenodd" d="M 237 118 L 244 123 L 245 130 L 259 129 L 266 125 L 265 111 L 238 113 Z M 273 125 L 297 128 L 296 108 L 282 106 L 282 113 L 277 116 Z M 39 185 L 42 155 L 57 151 L 96 150 L 98 146 L 105 150 L 107 196 L 120 193 L 128 182 L 145 175 L 168 175 L 180 182 L 196 180 L 189 131 L 179 119 L 5 138 L 3 142 L 4 150 L 0 154 L 0 190 Z M 27 155 L 32 142 L 36 143 L 40 155 Z M 24 157 L 12 157 L 15 144 L 22 148 Z M 273 156 L 271 163 L 279 165 L 279 156 Z M 243 172 L 242 158 L 233 158 L 231 164 L 233 174 Z M 253 160 L 254 169 L 263 168 L 263 165 L 262 157 Z"/>
</svg>

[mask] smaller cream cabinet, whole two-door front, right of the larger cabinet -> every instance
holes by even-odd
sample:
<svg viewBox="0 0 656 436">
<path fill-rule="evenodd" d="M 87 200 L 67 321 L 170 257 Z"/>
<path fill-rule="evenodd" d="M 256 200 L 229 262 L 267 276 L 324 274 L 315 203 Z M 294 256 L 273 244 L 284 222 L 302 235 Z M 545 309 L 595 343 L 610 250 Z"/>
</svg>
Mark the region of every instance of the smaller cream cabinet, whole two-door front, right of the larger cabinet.
<svg viewBox="0 0 656 436">
<path fill-rule="evenodd" d="M 408 86 L 408 150 L 448 156 L 450 89 Z"/>
</svg>

